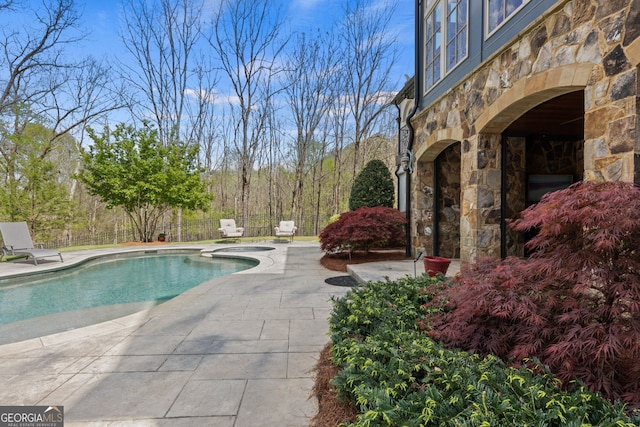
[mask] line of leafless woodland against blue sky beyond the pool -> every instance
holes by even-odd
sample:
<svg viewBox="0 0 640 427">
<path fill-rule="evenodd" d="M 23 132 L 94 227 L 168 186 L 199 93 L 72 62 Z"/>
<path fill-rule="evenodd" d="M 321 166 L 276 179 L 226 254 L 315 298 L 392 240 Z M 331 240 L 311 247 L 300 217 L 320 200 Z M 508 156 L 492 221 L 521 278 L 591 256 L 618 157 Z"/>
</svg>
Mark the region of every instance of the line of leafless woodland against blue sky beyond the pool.
<svg viewBox="0 0 640 427">
<path fill-rule="evenodd" d="M 87 23 L 74 0 L 0 1 L 0 220 L 59 244 L 128 227 L 77 179 L 90 135 L 119 123 L 198 148 L 213 198 L 172 207 L 173 240 L 185 221 L 293 219 L 317 232 L 347 210 L 364 164 L 394 167 L 395 6 L 343 0 L 330 30 L 300 32 L 279 5 L 124 0 L 113 43 L 127 54 L 95 58 L 80 54 Z"/>
</svg>

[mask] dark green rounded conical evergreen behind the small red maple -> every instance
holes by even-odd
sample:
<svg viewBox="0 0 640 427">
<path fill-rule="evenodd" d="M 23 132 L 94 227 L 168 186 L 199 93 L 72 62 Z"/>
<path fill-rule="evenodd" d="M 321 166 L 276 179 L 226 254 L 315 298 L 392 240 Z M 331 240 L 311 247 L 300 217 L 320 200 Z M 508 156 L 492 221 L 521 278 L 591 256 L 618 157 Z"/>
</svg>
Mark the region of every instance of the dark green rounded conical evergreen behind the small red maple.
<svg viewBox="0 0 640 427">
<path fill-rule="evenodd" d="M 362 206 L 393 207 L 395 189 L 389 168 L 382 160 L 371 160 L 356 176 L 349 196 L 349 209 Z"/>
</svg>

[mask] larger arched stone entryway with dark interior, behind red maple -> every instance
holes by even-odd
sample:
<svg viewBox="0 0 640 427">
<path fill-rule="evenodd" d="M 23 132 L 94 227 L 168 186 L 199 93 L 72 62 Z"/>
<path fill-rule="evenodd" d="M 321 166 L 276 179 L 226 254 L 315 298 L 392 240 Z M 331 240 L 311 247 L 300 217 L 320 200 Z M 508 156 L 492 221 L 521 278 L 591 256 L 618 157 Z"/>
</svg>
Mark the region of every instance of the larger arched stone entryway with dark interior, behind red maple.
<svg viewBox="0 0 640 427">
<path fill-rule="evenodd" d="M 506 220 L 537 201 L 528 194 L 532 175 L 583 179 L 589 147 L 585 134 L 594 126 L 585 124 L 584 91 L 591 68 L 572 64 L 531 76 L 505 90 L 493 108 L 478 116 L 478 134 L 463 150 L 463 183 L 470 184 L 463 186 L 463 260 L 526 254 L 528 236 L 509 230 Z M 563 82 L 573 84 L 559 84 Z"/>
</svg>

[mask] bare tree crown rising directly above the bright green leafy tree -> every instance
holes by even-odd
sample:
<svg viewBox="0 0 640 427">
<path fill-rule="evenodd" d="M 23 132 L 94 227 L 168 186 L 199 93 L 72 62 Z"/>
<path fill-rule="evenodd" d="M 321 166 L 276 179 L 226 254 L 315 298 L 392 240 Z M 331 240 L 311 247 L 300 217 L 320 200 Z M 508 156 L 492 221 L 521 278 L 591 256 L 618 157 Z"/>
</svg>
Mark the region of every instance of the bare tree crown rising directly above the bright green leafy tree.
<svg viewBox="0 0 640 427">
<path fill-rule="evenodd" d="M 122 16 L 121 38 L 134 59 L 123 64 L 124 79 L 140 101 L 134 115 L 152 117 L 160 140 L 170 144 L 182 136 L 202 1 L 127 0 Z"/>
</svg>

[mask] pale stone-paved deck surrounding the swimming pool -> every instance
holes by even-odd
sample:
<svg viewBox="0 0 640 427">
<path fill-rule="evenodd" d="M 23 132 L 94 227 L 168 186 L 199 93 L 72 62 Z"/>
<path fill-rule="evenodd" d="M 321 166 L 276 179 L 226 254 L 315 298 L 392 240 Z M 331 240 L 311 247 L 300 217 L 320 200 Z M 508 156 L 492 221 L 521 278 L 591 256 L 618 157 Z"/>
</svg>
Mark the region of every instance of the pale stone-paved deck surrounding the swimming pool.
<svg viewBox="0 0 640 427">
<path fill-rule="evenodd" d="M 325 283 L 341 274 L 321 266 L 316 243 L 247 246 L 275 249 L 231 254 L 260 264 L 148 310 L 1 345 L 0 405 L 64 406 L 67 427 L 310 425 L 317 412 L 313 368 L 329 340 L 331 298 L 349 288 Z M 139 250 L 65 252 L 64 266 Z M 0 277 L 60 266 L 2 263 Z M 384 280 L 412 276 L 414 263 L 351 267 L 354 277 Z"/>
</svg>

